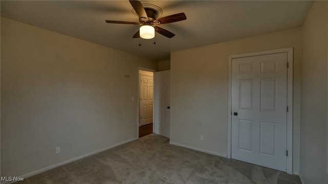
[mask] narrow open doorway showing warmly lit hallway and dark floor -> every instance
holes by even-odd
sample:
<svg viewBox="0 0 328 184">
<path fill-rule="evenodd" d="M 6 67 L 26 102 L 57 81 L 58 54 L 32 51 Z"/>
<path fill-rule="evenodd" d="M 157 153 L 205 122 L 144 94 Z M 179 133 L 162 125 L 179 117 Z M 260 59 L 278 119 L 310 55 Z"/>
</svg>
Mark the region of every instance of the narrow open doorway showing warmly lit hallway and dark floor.
<svg viewBox="0 0 328 184">
<path fill-rule="evenodd" d="M 139 137 L 153 133 L 154 73 L 139 70 Z"/>
</svg>

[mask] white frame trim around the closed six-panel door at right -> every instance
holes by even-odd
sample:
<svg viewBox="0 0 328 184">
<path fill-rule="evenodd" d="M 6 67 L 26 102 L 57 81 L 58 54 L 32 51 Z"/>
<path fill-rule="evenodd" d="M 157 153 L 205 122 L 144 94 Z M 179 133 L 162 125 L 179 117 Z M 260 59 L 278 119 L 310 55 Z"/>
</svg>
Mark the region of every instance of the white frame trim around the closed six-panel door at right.
<svg viewBox="0 0 328 184">
<path fill-rule="evenodd" d="M 288 174 L 293 174 L 293 48 L 276 49 L 270 51 L 261 51 L 246 54 L 231 55 L 228 59 L 229 66 L 229 79 L 228 79 L 228 154 L 227 157 L 231 158 L 231 94 L 232 94 L 232 59 L 242 57 L 252 57 L 268 54 L 287 53 L 287 163 L 286 171 Z"/>
</svg>

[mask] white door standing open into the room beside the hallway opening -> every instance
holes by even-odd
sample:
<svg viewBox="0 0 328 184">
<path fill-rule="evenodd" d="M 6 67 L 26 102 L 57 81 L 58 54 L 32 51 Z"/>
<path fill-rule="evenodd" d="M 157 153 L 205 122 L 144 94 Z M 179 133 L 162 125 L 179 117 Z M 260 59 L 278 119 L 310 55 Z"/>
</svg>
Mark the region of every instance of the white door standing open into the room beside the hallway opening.
<svg viewBox="0 0 328 184">
<path fill-rule="evenodd" d="M 170 71 L 155 73 L 154 132 L 170 137 Z"/>
</svg>

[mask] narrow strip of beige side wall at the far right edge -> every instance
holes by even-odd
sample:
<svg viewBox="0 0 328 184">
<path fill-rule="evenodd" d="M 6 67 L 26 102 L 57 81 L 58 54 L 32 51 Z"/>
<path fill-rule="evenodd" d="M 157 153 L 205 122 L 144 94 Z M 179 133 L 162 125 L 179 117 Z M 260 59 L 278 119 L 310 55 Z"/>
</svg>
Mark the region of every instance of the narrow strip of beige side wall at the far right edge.
<svg viewBox="0 0 328 184">
<path fill-rule="evenodd" d="M 302 26 L 300 176 L 328 183 L 326 173 L 328 2 L 315 2 Z"/>
</svg>

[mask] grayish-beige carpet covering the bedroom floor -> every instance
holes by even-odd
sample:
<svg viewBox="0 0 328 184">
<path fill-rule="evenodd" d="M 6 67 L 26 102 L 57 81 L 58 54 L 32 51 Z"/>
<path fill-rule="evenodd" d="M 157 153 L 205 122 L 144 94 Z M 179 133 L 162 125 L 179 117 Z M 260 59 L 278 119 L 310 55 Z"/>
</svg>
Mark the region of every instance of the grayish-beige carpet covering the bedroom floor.
<svg viewBox="0 0 328 184">
<path fill-rule="evenodd" d="M 150 134 L 139 140 L 26 178 L 19 183 L 300 183 L 289 175 L 169 144 Z"/>
</svg>

